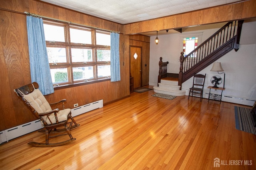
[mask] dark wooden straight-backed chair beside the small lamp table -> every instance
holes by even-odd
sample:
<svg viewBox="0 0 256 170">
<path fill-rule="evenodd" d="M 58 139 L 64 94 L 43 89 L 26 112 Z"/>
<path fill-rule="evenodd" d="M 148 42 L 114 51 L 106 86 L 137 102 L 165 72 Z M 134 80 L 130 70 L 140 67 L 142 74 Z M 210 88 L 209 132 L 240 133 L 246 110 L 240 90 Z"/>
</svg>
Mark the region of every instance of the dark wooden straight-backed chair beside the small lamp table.
<svg viewBox="0 0 256 170">
<path fill-rule="evenodd" d="M 189 89 L 188 99 L 189 96 L 200 96 L 200 102 L 202 102 L 205 77 L 206 74 L 194 74 L 193 86 Z"/>
</svg>

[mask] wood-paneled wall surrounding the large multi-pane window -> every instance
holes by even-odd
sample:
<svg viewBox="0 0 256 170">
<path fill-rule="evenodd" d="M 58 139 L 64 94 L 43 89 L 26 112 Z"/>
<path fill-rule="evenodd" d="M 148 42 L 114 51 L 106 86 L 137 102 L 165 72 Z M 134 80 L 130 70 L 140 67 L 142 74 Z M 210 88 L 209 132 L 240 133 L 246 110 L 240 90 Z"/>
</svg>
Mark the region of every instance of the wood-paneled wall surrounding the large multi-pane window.
<svg viewBox="0 0 256 170">
<path fill-rule="evenodd" d="M 0 8 L 0 131 L 36 119 L 13 91 L 31 83 L 25 11 L 113 31 L 122 32 L 123 27 L 118 23 L 34 0 L 0 0 Z M 104 104 L 107 104 L 125 98 L 130 95 L 129 62 L 129 36 L 120 34 L 120 63 L 124 63 L 120 64 L 121 81 L 55 90 L 46 99 L 51 103 L 66 98 L 66 108 L 73 108 L 76 103 L 81 106 L 103 99 Z"/>
</svg>

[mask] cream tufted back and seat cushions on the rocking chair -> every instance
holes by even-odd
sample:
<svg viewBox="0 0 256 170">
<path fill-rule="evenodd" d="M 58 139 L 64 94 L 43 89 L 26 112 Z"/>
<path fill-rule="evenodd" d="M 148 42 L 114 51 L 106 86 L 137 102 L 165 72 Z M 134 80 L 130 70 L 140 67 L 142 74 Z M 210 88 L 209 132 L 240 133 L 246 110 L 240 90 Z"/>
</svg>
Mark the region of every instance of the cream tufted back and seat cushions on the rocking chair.
<svg viewBox="0 0 256 170">
<path fill-rule="evenodd" d="M 46 98 L 44 98 L 44 95 L 39 89 L 34 89 L 32 93 L 24 95 L 23 98 L 36 110 L 37 113 L 52 111 L 50 104 L 47 102 Z M 70 113 L 70 109 L 60 110 L 57 113 L 58 121 L 66 121 L 68 113 Z M 56 123 L 54 113 L 51 113 L 48 117 L 42 116 L 48 125 Z"/>
</svg>

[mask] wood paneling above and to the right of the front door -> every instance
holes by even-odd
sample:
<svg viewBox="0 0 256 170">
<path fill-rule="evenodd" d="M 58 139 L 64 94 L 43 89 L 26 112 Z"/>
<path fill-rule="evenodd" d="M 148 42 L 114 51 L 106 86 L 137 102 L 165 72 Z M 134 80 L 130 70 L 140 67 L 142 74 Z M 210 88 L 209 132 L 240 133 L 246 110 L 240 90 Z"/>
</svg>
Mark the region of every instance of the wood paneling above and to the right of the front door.
<svg viewBox="0 0 256 170">
<path fill-rule="evenodd" d="M 130 45 L 142 47 L 142 86 L 149 82 L 149 50 L 150 37 L 145 35 L 130 35 Z"/>
</svg>

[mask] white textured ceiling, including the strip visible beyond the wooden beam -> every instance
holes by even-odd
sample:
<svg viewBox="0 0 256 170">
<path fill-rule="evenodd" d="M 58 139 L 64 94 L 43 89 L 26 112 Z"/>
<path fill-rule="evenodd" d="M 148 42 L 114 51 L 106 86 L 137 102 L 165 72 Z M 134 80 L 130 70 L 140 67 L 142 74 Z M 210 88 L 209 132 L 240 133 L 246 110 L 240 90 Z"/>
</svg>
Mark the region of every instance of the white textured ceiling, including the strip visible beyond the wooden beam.
<svg viewBox="0 0 256 170">
<path fill-rule="evenodd" d="M 121 24 L 150 20 L 244 0 L 41 0 Z M 159 31 L 158 35 L 174 30 Z M 175 31 L 176 32 L 176 31 Z M 177 32 L 176 32 L 177 33 Z M 143 35 L 156 35 L 143 33 Z"/>
</svg>

